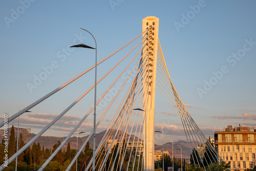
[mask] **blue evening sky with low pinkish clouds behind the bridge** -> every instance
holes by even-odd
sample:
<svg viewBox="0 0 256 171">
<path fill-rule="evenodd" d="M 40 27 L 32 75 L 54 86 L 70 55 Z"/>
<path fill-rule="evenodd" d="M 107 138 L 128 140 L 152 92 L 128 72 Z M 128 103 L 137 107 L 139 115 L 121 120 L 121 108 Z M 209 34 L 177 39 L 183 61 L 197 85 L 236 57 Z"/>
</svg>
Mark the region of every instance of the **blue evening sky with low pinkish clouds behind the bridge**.
<svg viewBox="0 0 256 171">
<path fill-rule="evenodd" d="M 156 16 L 170 77 L 206 136 L 213 137 L 215 130 L 227 125 L 253 126 L 256 120 L 255 5 L 255 1 L 2 1 L 1 113 L 15 114 L 23 103 L 32 103 L 94 64 L 94 50 L 67 51 L 73 41 L 95 46 L 91 35 L 79 28 L 95 36 L 100 60 L 139 35 L 143 18 Z M 98 75 L 103 75 L 113 61 L 99 66 Z M 30 91 L 27 83 L 32 83 L 50 65 L 55 66 L 53 71 Z M 38 133 L 51 118 L 49 114 L 61 113 L 91 86 L 93 74 L 89 72 L 87 77 L 31 109 L 33 114 L 29 117 L 27 114 L 20 117 L 20 125 L 32 127 L 32 132 Z M 209 83 L 210 87 L 205 86 Z M 156 117 L 155 123 L 165 125 L 165 138 L 184 139 L 177 134 L 182 132 L 179 116 L 166 114 L 174 110 L 157 97 L 155 112 L 161 117 Z M 92 102 L 93 92 L 68 112 L 63 122 L 77 122 L 91 107 L 84 104 Z M 68 116 L 78 118 L 69 120 Z M 111 115 L 106 117 L 97 132 L 103 131 L 111 118 Z M 35 121 L 32 126 L 30 119 Z M 84 132 L 89 133 L 91 123 L 84 124 Z M 17 120 L 10 124 L 17 125 Z M 72 126 L 59 124 L 44 135 L 67 136 L 64 129 L 69 131 Z"/>
</svg>

